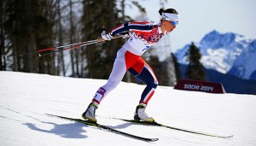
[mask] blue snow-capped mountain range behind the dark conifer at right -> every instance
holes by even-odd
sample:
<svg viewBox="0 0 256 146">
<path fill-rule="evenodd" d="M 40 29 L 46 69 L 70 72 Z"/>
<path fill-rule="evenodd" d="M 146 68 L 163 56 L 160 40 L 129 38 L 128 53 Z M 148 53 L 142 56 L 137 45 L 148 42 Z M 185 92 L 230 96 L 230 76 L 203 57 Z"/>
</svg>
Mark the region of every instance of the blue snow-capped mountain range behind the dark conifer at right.
<svg viewBox="0 0 256 146">
<path fill-rule="evenodd" d="M 205 68 L 219 73 L 233 74 L 242 79 L 256 80 L 256 39 L 240 34 L 212 31 L 195 43 L 202 54 Z M 190 44 L 177 50 L 175 55 L 181 64 L 187 64 L 186 52 Z"/>
</svg>

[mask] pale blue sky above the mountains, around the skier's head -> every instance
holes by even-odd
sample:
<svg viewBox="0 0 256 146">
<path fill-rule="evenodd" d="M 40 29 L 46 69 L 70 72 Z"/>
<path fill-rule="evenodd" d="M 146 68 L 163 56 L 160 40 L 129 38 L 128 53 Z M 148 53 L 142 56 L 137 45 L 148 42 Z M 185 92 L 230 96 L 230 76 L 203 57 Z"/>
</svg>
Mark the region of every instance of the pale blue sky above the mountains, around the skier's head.
<svg viewBox="0 0 256 146">
<path fill-rule="evenodd" d="M 138 2 L 146 9 L 149 20 L 160 19 L 159 0 Z M 180 24 L 170 34 L 172 51 L 199 42 L 213 30 L 256 38 L 256 0 L 168 0 L 164 7 L 180 13 Z M 127 7 L 125 13 L 133 18 L 139 15 L 136 7 Z"/>
</svg>

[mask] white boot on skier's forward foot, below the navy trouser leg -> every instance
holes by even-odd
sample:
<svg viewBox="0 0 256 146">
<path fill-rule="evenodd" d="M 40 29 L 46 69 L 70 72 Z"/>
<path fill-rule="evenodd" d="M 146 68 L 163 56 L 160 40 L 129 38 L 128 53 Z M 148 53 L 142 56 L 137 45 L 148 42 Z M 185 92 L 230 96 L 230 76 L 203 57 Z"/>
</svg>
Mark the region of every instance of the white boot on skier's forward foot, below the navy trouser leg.
<svg viewBox="0 0 256 146">
<path fill-rule="evenodd" d="M 155 122 L 154 118 L 149 117 L 148 114 L 145 113 L 146 106 L 143 104 L 137 105 L 136 111 L 134 113 L 134 120 L 144 120 L 146 122 Z"/>
</svg>

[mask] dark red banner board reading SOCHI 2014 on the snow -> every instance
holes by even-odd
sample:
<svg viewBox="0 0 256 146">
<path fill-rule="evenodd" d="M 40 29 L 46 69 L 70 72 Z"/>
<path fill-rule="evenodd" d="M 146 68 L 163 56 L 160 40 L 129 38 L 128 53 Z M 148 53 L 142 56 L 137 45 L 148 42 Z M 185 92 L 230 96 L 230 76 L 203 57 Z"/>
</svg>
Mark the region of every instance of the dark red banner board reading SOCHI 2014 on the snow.
<svg viewBox="0 0 256 146">
<path fill-rule="evenodd" d="M 184 91 L 204 91 L 209 93 L 226 93 L 222 83 L 205 82 L 199 80 L 180 79 L 174 89 Z"/>
</svg>

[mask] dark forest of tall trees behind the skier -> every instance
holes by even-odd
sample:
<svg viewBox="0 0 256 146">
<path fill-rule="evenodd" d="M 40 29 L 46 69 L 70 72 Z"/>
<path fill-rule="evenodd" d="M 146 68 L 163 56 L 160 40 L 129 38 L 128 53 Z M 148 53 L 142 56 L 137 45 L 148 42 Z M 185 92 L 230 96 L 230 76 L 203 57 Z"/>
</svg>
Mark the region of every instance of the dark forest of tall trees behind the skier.
<svg viewBox="0 0 256 146">
<path fill-rule="evenodd" d="M 128 6 L 146 13 L 137 1 L 132 0 L 1 0 L 0 70 L 107 79 L 116 52 L 125 39 L 117 38 L 42 57 L 17 54 L 100 38 L 102 31 L 109 32 L 114 26 L 132 21 L 125 14 Z M 174 72 L 175 80 L 180 78 L 178 61 L 174 55 L 170 57 L 174 62 L 171 71 L 166 67 L 168 61 L 161 62 L 157 56 L 147 60 L 161 85 L 170 85 L 167 81 L 169 72 Z M 129 78 L 125 76 L 124 80 Z"/>
</svg>

